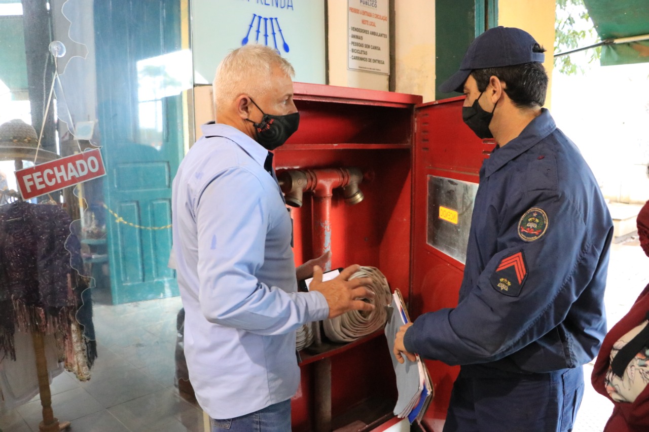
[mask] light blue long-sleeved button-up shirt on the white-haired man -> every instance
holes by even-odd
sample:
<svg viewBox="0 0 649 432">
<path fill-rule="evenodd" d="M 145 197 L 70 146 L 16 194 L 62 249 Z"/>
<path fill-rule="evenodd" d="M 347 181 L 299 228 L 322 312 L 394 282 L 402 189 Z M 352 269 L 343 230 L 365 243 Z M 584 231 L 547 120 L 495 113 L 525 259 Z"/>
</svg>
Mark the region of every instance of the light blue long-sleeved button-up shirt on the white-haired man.
<svg viewBox="0 0 649 432">
<path fill-rule="evenodd" d="M 212 418 L 232 418 L 295 394 L 295 330 L 328 306 L 297 293 L 291 220 L 263 168 L 267 150 L 231 126 L 202 132 L 173 182 L 173 250 L 191 384 Z"/>
</svg>

